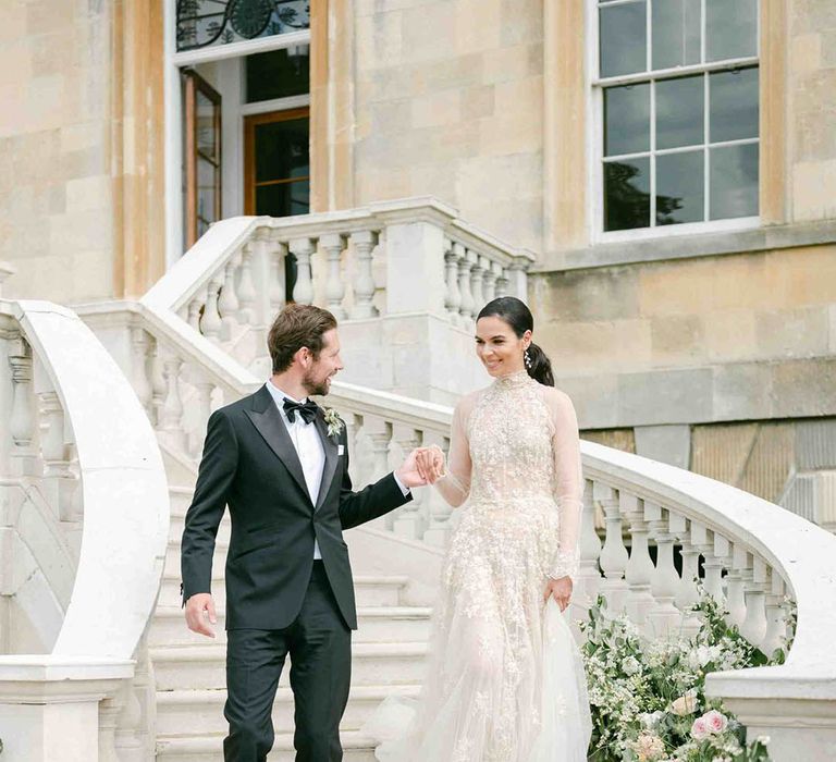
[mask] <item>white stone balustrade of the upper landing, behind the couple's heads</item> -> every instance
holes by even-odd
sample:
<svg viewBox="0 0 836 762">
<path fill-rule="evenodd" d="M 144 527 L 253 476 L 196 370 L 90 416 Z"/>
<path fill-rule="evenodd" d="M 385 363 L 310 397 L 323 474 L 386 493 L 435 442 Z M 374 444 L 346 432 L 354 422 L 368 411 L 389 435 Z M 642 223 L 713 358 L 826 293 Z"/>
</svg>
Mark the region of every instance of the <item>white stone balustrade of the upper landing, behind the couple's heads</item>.
<svg viewBox="0 0 836 762">
<path fill-rule="evenodd" d="M 317 304 L 341 321 L 349 381 L 450 403 L 454 380 L 480 372 L 476 314 L 494 296 L 525 298 L 532 261 L 434 199 L 406 199 L 218 222 L 142 303 L 246 367 L 265 362 L 267 328 L 287 300 Z M 427 361 L 430 344 L 448 359 Z"/>
</svg>

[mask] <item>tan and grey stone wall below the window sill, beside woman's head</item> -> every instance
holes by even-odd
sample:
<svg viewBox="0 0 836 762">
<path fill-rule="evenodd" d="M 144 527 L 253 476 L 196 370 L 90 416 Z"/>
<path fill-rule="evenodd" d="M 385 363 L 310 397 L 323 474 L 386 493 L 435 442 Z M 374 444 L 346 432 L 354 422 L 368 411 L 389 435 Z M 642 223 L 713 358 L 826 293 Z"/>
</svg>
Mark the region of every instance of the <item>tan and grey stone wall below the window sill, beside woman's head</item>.
<svg viewBox="0 0 836 762">
<path fill-rule="evenodd" d="M 836 246 L 538 273 L 585 428 L 836 414 Z"/>
</svg>

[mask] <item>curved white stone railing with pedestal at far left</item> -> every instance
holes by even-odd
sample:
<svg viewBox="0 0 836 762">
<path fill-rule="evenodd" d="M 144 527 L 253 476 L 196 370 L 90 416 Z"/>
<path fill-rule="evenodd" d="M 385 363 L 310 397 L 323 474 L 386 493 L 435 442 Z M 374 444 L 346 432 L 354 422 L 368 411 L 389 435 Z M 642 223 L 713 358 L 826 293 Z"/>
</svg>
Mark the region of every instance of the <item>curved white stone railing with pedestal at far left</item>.
<svg viewBox="0 0 836 762">
<path fill-rule="evenodd" d="M 9 421 L 4 518 L 63 614 L 47 638 L 50 653 L 0 656 L 0 714 L 13 705 L 16 720 L 3 733 L 3 757 L 144 753 L 138 725 L 148 708 L 131 678 L 145 661 L 169 524 L 153 431 L 111 356 L 70 310 L 0 300 L 0 339 L 11 370 L 0 395 Z M 33 530 L 44 505 L 51 516 L 41 511 Z M 42 609 L 42 600 L 29 603 Z"/>
</svg>

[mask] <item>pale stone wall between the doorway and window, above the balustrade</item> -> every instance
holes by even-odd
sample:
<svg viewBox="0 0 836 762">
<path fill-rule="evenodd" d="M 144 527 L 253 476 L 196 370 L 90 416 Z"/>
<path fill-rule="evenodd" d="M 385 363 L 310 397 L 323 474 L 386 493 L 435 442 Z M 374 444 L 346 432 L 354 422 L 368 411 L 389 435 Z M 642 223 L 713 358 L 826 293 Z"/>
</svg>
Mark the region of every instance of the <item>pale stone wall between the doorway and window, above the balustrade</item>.
<svg viewBox="0 0 836 762">
<path fill-rule="evenodd" d="M 542 2 L 358 0 L 355 204 L 433 195 L 542 238 Z"/>
</svg>

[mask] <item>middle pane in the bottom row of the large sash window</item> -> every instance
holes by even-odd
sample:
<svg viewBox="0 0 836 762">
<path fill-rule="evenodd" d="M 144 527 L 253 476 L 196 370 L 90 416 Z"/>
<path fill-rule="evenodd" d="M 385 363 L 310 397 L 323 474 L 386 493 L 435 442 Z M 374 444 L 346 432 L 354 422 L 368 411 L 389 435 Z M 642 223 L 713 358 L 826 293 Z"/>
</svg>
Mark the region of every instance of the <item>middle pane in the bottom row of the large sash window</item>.
<svg viewBox="0 0 836 762">
<path fill-rule="evenodd" d="M 656 224 L 702 222 L 704 151 L 656 157 Z"/>
</svg>

